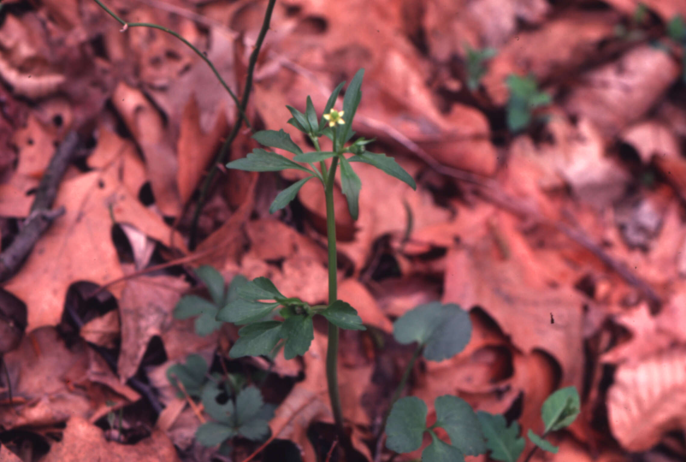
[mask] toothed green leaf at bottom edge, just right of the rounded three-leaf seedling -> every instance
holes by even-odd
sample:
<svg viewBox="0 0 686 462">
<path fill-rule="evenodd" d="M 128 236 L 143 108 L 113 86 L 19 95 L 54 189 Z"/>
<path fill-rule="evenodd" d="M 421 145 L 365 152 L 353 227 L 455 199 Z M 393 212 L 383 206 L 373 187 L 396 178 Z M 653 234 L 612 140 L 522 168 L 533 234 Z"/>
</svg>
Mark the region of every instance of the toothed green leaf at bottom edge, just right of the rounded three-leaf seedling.
<svg viewBox="0 0 686 462">
<path fill-rule="evenodd" d="M 502 414 L 477 412 L 477 418 L 486 437 L 486 448 L 490 458 L 501 462 L 517 462 L 526 441 L 519 436 L 519 424 L 512 422 L 508 427 Z"/>
</svg>

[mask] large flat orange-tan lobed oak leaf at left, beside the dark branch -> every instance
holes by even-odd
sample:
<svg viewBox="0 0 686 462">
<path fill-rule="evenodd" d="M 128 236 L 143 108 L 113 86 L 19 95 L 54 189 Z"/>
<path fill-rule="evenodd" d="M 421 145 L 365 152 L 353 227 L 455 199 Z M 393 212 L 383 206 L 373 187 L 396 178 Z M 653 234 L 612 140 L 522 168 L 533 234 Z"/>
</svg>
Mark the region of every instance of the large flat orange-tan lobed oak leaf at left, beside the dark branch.
<svg viewBox="0 0 686 462">
<path fill-rule="evenodd" d="M 123 276 L 111 238 L 112 217 L 170 245 L 169 227 L 128 193 L 114 169 L 62 182 L 55 206 L 64 206 L 65 214 L 52 223 L 19 273 L 5 284 L 27 305 L 29 331 L 58 324 L 73 282 L 106 284 Z M 178 236 L 175 242 L 182 243 Z M 118 296 L 121 284 L 109 290 Z"/>
</svg>

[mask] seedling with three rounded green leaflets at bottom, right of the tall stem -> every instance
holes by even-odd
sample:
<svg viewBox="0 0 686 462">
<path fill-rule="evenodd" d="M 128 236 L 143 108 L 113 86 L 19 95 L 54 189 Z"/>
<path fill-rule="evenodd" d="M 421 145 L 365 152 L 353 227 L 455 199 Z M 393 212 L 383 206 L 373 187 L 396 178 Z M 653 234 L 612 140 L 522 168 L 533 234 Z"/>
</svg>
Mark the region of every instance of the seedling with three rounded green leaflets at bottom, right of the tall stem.
<svg viewBox="0 0 686 462">
<path fill-rule="evenodd" d="M 422 446 L 425 432 L 431 444 L 422 451 L 424 462 L 462 462 L 465 455 L 477 456 L 486 452 L 486 443 L 477 415 L 469 404 L 456 396 L 439 396 L 434 402 L 436 423 L 427 426 L 427 405 L 408 396 L 398 400 L 388 417 L 386 447 L 395 452 L 412 452 Z M 440 427 L 450 437 L 450 444 L 434 433 Z"/>
</svg>

